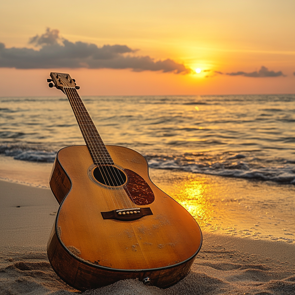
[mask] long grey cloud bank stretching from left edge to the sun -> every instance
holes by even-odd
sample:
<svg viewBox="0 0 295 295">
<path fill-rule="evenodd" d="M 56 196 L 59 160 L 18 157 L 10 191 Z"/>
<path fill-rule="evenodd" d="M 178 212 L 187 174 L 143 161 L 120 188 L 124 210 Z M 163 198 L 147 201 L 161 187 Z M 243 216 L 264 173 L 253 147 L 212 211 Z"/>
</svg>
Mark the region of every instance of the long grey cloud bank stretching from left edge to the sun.
<svg viewBox="0 0 295 295">
<path fill-rule="evenodd" d="M 190 68 L 171 59 L 155 61 L 150 56 L 136 56 L 136 50 L 127 45 L 104 45 L 70 42 L 59 36 L 58 30 L 50 30 L 41 36 L 30 38 L 29 44 L 40 47 L 6 48 L 0 43 L 0 67 L 4 68 L 111 68 L 133 71 L 162 71 L 191 73 Z"/>
</svg>

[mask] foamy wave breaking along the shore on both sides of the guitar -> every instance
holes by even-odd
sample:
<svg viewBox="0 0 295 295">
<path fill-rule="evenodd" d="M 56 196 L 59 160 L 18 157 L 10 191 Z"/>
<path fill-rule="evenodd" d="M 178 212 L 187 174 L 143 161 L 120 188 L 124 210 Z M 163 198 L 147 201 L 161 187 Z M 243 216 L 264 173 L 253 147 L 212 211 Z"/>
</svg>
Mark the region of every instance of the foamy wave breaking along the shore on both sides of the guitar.
<svg viewBox="0 0 295 295">
<path fill-rule="evenodd" d="M 41 147 L 42 148 L 42 147 Z M 53 163 L 57 151 L 22 145 L 1 145 L 0 154 L 16 160 Z M 295 185 L 295 161 L 263 160 L 244 153 L 184 153 L 183 155 L 145 154 L 149 167 L 227 177 L 274 181 Z"/>
</svg>

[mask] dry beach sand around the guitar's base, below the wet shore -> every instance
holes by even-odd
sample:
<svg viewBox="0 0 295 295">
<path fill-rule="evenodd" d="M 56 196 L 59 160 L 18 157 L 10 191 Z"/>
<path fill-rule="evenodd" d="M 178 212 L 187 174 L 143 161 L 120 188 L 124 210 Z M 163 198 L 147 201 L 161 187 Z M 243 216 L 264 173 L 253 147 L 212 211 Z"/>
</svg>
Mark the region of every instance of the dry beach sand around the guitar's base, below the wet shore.
<svg viewBox="0 0 295 295">
<path fill-rule="evenodd" d="M 47 259 L 58 203 L 51 191 L 0 181 L 0 294 L 70 294 Z M 295 294 L 294 243 L 253 240 L 204 231 L 193 267 L 168 289 L 119 281 L 85 294 Z"/>
</svg>

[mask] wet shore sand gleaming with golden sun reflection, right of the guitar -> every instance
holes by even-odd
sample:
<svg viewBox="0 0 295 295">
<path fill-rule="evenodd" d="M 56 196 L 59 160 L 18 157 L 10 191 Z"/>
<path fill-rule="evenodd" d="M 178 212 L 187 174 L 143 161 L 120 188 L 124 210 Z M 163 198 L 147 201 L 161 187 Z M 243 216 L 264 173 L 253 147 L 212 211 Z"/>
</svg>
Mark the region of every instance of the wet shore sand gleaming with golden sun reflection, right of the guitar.
<svg viewBox="0 0 295 295">
<path fill-rule="evenodd" d="M 295 242 L 293 185 L 155 169 L 150 175 L 202 231 Z"/>
</svg>

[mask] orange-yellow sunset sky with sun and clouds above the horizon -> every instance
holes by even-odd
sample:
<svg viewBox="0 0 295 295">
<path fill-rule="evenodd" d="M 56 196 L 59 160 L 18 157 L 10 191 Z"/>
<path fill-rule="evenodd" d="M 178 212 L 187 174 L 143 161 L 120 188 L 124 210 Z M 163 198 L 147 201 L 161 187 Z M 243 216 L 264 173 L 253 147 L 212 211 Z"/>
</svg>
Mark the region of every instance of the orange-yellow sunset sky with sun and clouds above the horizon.
<svg viewBox="0 0 295 295">
<path fill-rule="evenodd" d="M 294 0 L 0 8 L 0 96 L 60 95 L 50 71 L 70 73 L 82 95 L 295 93 Z"/>
</svg>

